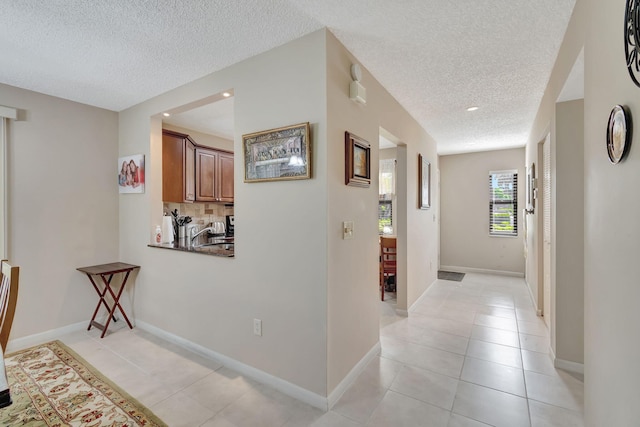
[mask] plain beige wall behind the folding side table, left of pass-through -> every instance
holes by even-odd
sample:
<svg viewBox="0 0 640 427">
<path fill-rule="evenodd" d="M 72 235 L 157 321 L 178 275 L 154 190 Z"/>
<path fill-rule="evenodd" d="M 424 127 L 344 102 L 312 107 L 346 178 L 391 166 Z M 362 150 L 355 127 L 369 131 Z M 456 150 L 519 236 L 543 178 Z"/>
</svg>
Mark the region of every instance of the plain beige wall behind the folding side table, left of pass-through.
<svg viewBox="0 0 640 427">
<path fill-rule="evenodd" d="M 19 109 L 7 148 L 8 255 L 20 267 L 10 338 L 88 324 L 98 296 L 76 268 L 118 261 L 117 114 L 1 84 L 0 99 Z"/>
</svg>

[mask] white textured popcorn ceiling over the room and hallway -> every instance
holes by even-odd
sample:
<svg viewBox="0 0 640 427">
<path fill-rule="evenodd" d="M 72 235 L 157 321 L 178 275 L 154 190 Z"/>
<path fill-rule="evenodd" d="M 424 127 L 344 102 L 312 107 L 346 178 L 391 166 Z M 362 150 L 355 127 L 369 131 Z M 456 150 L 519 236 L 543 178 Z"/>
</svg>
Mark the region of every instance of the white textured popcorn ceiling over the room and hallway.
<svg viewBox="0 0 640 427">
<path fill-rule="evenodd" d="M 0 82 L 120 111 L 328 27 L 434 137 L 440 154 L 517 147 L 574 4 L 3 1 Z M 480 109 L 469 113 L 471 105 Z"/>
</svg>

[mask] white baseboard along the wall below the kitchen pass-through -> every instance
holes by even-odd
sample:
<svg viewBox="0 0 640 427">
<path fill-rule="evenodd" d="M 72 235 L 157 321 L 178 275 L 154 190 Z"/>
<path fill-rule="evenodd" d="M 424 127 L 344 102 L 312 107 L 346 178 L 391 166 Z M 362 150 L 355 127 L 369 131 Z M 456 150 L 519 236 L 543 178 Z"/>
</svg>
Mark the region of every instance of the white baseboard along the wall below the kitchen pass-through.
<svg viewBox="0 0 640 427">
<path fill-rule="evenodd" d="M 179 337 L 178 335 L 174 335 L 142 320 L 136 319 L 136 327 L 152 333 L 153 335 L 156 335 L 160 338 L 163 338 L 173 344 L 179 345 L 180 347 L 186 348 L 187 350 L 199 354 L 200 356 L 203 356 L 207 359 L 218 361 L 227 368 L 233 369 L 234 371 L 246 375 L 247 377 L 254 379 L 262 384 L 273 387 L 279 392 L 284 393 L 287 396 L 291 396 L 294 399 L 298 399 L 302 402 L 308 403 L 309 405 L 314 406 L 318 409 L 322 409 L 323 411 L 327 411 L 329 409 L 328 399 L 317 393 L 268 374 L 264 371 L 261 371 L 260 369 L 256 369 L 253 366 L 249 366 L 247 364 L 239 362 L 235 359 L 232 359 L 231 357 L 210 350 L 192 341 L 186 340 L 182 337 Z"/>
</svg>

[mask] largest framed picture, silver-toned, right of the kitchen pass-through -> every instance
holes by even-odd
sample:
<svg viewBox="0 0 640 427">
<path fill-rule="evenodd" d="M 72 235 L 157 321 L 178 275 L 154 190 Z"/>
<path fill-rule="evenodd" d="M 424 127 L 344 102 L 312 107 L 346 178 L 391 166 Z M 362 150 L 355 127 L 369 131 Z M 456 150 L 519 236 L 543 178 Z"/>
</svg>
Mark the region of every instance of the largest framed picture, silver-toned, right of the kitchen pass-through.
<svg viewBox="0 0 640 427">
<path fill-rule="evenodd" d="M 244 182 L 311 178 L 309 123 L 242 135 Z"/>
</svg>

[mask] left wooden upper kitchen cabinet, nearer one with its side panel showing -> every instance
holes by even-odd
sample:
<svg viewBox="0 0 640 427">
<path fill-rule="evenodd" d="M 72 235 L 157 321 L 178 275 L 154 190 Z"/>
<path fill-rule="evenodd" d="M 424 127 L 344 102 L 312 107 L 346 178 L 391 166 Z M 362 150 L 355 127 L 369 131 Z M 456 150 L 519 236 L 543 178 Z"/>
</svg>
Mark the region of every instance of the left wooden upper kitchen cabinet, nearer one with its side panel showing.
<svg viewBox="0 0 640 427">
<path fill-rule="evenodd" d="M 162 201 L 189 203 L 196 199 L 196 145 L 189 135 L 162 131 Z"/>
</svg>

